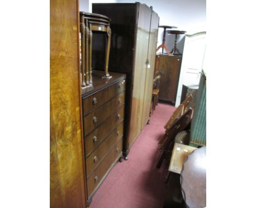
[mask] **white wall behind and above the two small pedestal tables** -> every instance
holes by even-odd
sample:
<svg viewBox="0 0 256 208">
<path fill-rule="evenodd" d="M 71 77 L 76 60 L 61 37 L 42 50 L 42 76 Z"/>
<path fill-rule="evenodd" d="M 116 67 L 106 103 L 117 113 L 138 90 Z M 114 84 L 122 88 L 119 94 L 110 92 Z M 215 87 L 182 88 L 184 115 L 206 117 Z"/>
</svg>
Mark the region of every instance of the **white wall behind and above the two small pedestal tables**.
<svg viewBox="0 0 256 208">
<path fill-rule="evenodd" d="M 118 3 L 135 3 L 136 1 L 117 0 Z M 194 34 L 206 31 L 206 0 L 141 0 L 137 1 L 152 6 L 160 17 L 159 25 L 176 26 L 178 30 Z M 162 43 L 164 29 L 159 28 L 158 46 Z M 171 51 L 175 35 L 166 34 L 166 45 Z M 178 35 L 177 48 L 183 51 L 184 35 Z M 159 50 L 158 52 L 160 52 Z"/>
</svg>

